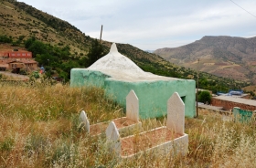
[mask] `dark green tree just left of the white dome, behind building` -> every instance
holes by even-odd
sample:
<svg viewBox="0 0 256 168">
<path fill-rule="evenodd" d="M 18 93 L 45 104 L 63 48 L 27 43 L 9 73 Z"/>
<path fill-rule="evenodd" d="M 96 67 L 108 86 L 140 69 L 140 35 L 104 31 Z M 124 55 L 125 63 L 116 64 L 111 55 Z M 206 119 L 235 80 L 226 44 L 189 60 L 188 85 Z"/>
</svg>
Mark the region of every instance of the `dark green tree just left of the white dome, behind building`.
<svg viewBox="0 0 256 168">
<path fill-rule="evenodd" d="M 102 45 L 99 43 L 97 39 L 92 41 L 91 48 L 89 53 L 87 54 L 87 62 L 86 67 L 90 67 L 94 62 L 96 62 L 99 58 L 102 58 L 107 53 L 104 52 Z"/>
</svg>

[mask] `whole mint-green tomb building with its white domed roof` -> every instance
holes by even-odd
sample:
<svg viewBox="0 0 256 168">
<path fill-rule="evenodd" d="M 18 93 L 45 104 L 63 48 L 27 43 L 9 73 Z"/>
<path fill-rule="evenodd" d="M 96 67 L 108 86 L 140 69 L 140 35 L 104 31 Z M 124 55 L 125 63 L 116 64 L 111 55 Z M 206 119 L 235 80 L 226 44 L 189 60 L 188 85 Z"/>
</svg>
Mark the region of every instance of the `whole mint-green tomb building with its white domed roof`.
<svg viewBox="0 0 256 168">
<path fill-rule="evenodd" d="M 125 107 L 131 89 L 139 99 L 140 118 L 161 117 L 167 113 L 167 100 L 177 92 L 185 103 L 185 115 L 196 115 L 196 82 L 144 72 L 133 61 L 120 54 L 113 43 L 110 53 L 89 68 L 72 68 L 71 87 L 100 87 L 105 95 Z"/>
</svg>

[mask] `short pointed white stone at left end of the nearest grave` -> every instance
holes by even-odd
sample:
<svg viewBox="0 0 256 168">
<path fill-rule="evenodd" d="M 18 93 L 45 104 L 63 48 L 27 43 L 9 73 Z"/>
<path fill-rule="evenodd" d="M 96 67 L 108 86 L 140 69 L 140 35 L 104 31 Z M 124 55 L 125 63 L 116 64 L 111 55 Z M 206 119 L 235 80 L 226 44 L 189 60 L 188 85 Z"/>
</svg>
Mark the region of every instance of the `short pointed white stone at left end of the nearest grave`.
<svg viewBox="0 0 256 168">
<path fill-rule="evenodd" d="M 113 121 L 110 122 L 107 130 L 106 130 L 106 138 L 108 142 L 111 142 L 111 149 L 113 152 L 117 154 L 121 153 L 121 140 L 119 131 L 117 130 Z"/>
</svg>

